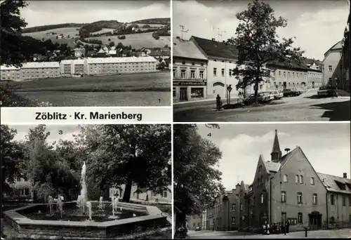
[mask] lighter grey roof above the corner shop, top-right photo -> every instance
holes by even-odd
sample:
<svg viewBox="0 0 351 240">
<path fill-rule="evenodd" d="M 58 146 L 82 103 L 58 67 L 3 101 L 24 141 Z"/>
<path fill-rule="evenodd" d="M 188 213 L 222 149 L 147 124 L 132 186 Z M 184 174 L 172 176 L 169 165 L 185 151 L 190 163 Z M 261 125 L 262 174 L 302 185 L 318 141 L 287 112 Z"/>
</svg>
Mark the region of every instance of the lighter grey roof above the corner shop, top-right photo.
<svg viewBox="0 0 351 240">
<path fill-rule="evenodd" d="M 193 41 L 173 39 L 173 57 L 207 60 Z"/>
</svg>

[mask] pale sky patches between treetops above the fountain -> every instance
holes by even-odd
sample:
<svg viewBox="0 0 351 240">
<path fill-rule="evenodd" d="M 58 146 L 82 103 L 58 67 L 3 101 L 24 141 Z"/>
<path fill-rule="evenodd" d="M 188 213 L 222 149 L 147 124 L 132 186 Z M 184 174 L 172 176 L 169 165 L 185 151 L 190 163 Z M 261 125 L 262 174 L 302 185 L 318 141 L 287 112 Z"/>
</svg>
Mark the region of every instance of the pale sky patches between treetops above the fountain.
<svg viewBox="0 0 351 240">
<path fill-rule="evenodd" d="M 18 126 L 18 125 L 9 125 L 10 128 L 17 130 L 17 134 L 13 140 L 25 140 L 25 136 L 28 135 L 29 129 L 35 128 L 37 125 L 28 125 L 28 126 Z M 48 143 L 56 142 L 60 139 L 62 140 L 74 140 L 73 135 L 80 133 L 78 125 L 46 125 L 46 131 L 50 132 L 48 135 Z M 62 134 L 60 134 L 62 131 Z"/>
</svg>

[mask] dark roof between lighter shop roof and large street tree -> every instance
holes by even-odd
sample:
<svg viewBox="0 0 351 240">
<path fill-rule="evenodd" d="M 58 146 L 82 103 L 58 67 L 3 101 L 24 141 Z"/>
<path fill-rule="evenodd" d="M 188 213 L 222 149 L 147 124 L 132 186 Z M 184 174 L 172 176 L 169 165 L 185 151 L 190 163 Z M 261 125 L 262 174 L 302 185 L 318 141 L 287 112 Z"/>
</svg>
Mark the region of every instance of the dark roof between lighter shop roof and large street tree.
<svg viewBox="0 0 351 240">
<path fill-rule="evenodd" d="M 238 50 L 231 44 L 225 44 L 220 41 L 212 41 L 209 39 L 201 39 L 197 36 L 192 36 L 190 41 L 201 48 L 201 50 L 208 56 L 212 58 L 225 58 L 229 60 L 238 59 Z"/>
</svg>

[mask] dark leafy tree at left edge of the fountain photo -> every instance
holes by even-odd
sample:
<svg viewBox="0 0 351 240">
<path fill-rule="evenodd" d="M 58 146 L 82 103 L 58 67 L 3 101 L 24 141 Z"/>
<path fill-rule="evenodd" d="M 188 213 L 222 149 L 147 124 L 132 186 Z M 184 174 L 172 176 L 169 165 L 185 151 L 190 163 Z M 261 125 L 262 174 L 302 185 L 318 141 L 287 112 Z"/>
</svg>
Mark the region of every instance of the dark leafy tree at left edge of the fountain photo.
<svg viewBox="0 0 351 240">
<path fill-rule="evenodd" d="M 1 197 L 4 192 L 11 192 L 7 182 L 13 182 L 15 176 L 20 175 L 18 164 L 23 152 L 19 143 L 13 140 L 16 133 L 15 129 L 1 125 Z"/>
</svg>

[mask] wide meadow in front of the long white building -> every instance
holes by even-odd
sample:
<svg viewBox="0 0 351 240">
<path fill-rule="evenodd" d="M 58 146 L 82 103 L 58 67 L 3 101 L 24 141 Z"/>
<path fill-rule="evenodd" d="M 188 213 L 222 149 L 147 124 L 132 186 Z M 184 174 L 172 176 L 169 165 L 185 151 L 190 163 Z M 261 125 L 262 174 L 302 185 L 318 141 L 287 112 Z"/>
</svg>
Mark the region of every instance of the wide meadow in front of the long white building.
<svg viewBox="0 0 351 240">
<path fill-rule="evenodd" d="M 171 105 L 170 72 L 0 83 L 3 87 L 6 84 L 15 95 L 57 107 Z"/>
</svg>

